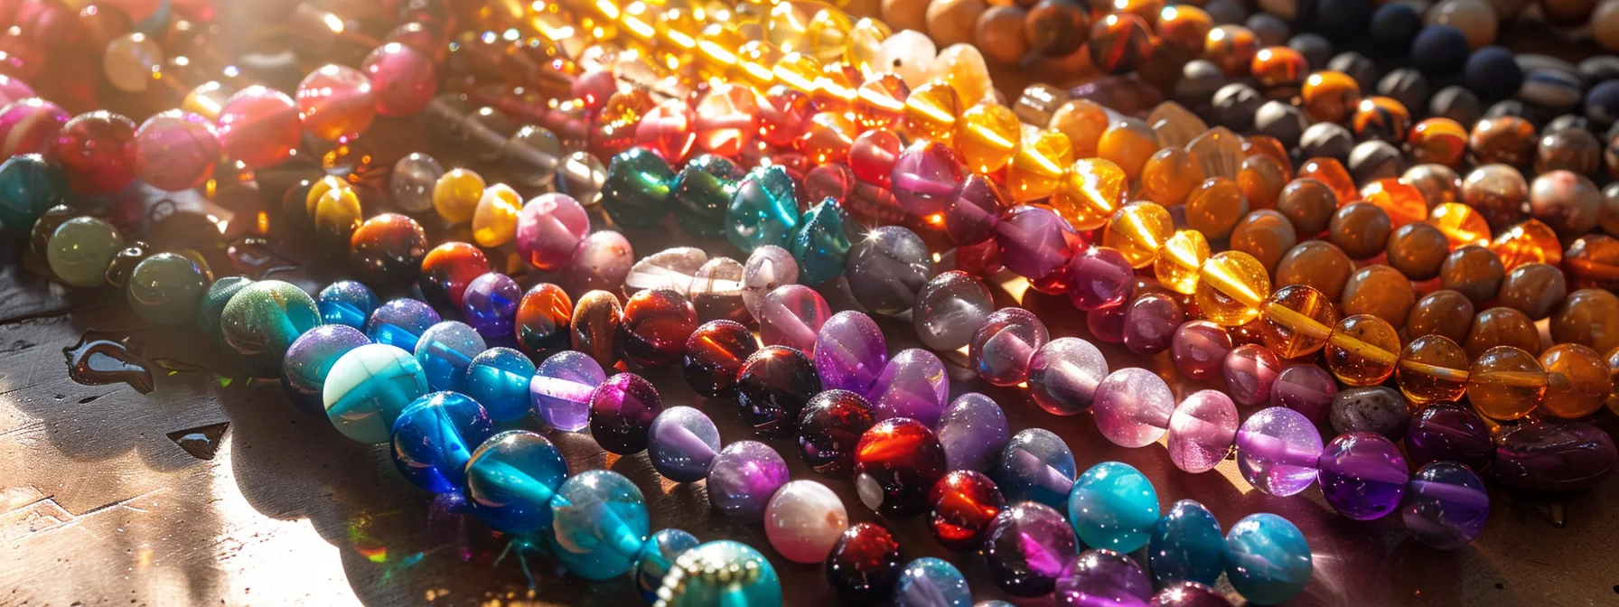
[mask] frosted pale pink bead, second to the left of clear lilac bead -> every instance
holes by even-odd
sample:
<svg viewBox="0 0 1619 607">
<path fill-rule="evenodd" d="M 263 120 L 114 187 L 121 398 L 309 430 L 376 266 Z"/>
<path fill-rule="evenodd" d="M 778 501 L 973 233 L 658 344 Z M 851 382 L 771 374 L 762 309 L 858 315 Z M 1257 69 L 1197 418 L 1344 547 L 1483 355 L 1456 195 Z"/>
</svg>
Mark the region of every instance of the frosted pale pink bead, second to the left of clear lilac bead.
<svg viewBox="0 0 1619 607">
<path fill-rule="evenodd" d="M 1114 371 L 1096 387 L 1096 429 L 1119 447 L 1146 447 L 1169 431 L 1175 393 L 1141 367 Z"/>
</svg>

